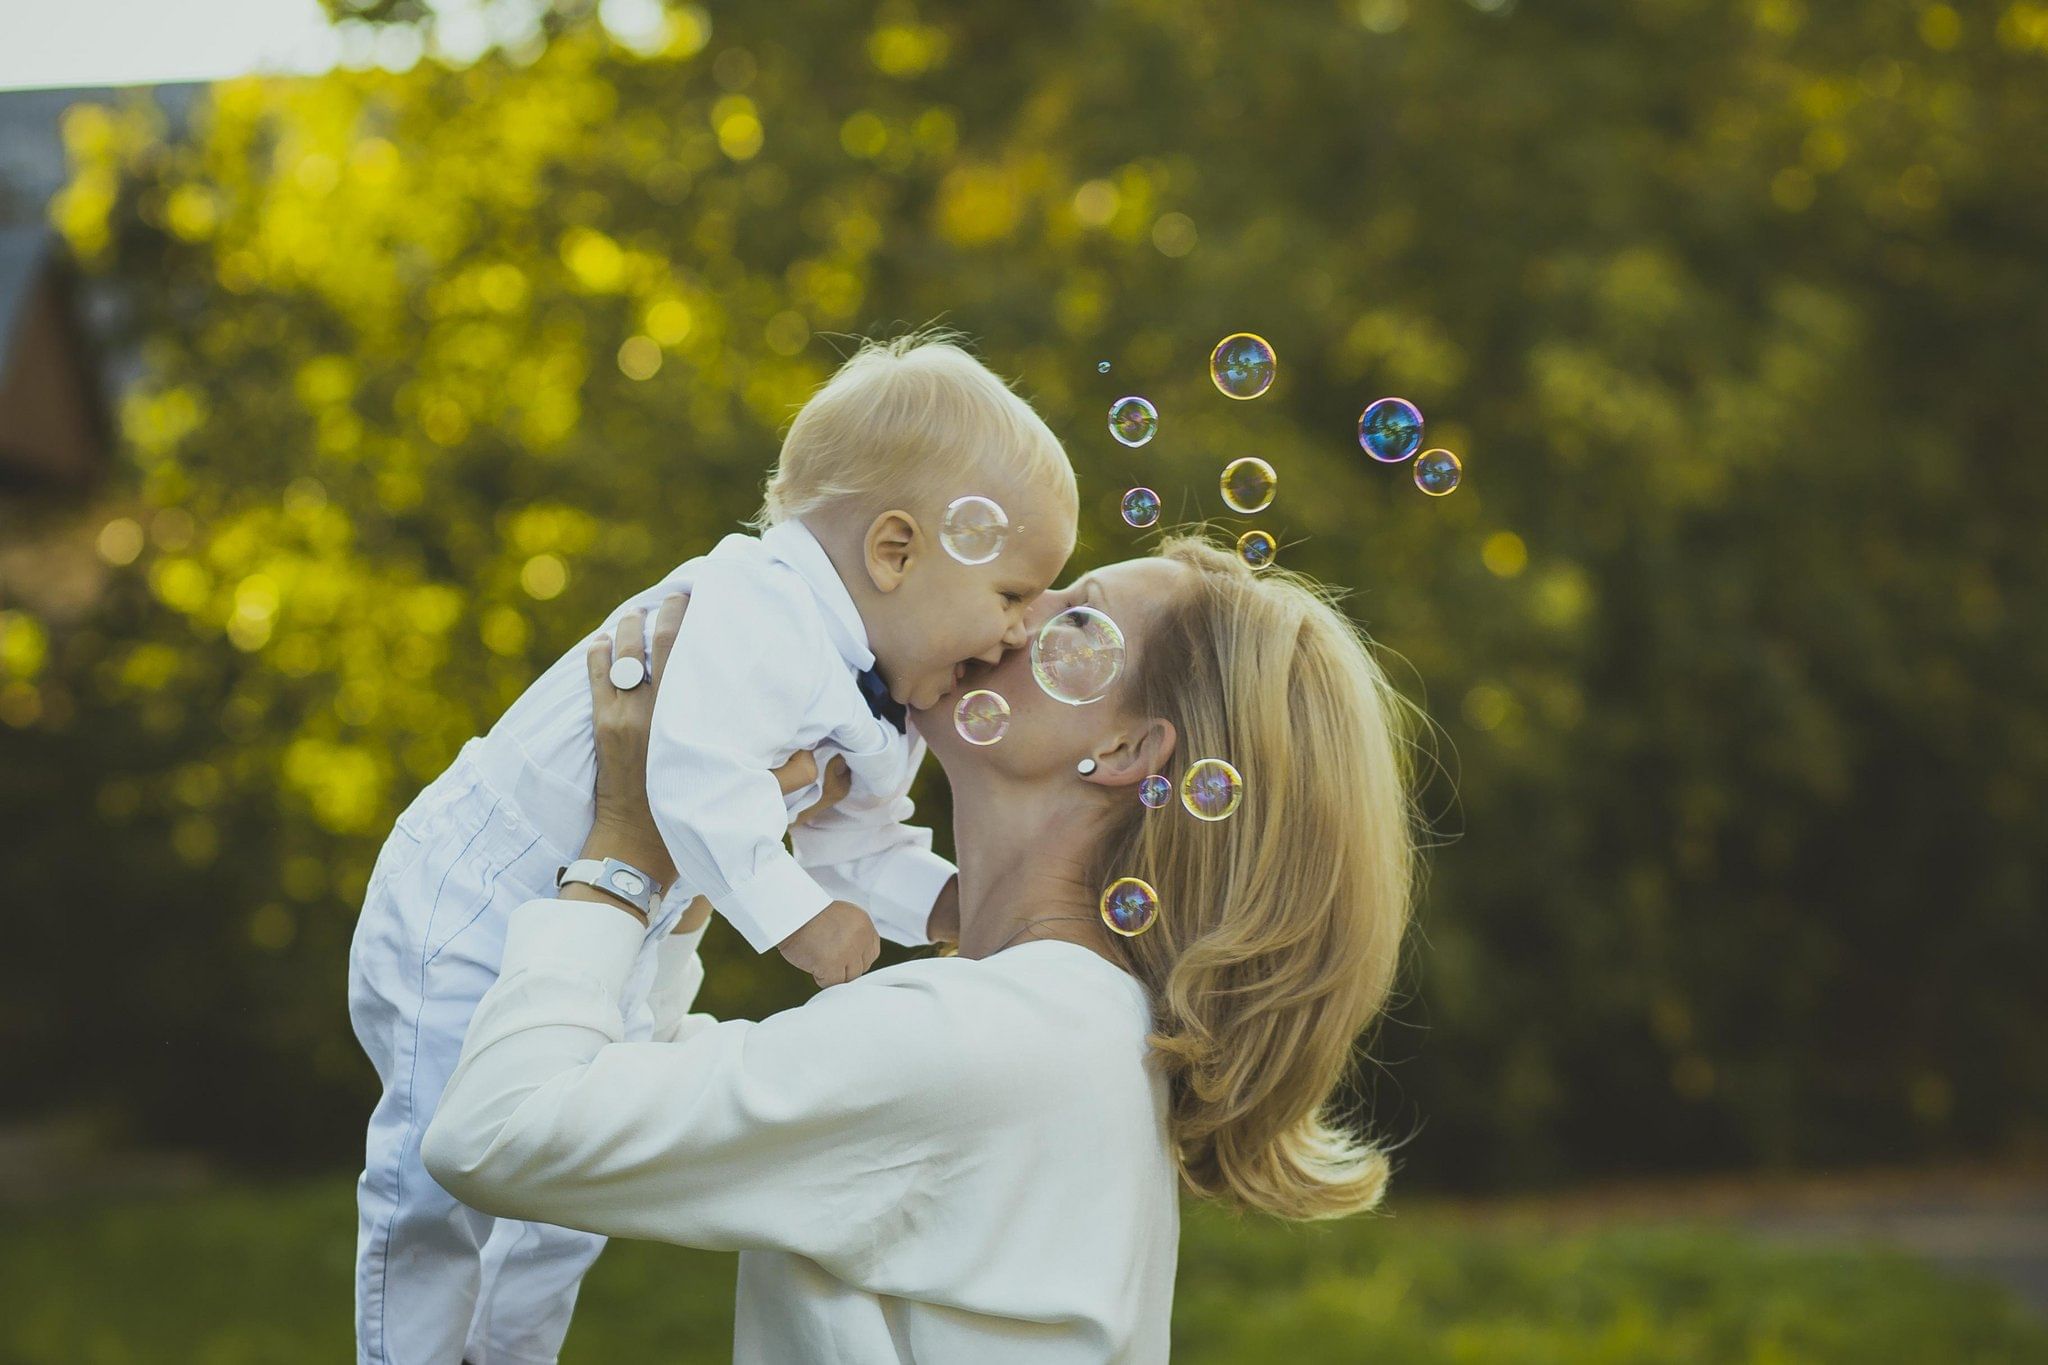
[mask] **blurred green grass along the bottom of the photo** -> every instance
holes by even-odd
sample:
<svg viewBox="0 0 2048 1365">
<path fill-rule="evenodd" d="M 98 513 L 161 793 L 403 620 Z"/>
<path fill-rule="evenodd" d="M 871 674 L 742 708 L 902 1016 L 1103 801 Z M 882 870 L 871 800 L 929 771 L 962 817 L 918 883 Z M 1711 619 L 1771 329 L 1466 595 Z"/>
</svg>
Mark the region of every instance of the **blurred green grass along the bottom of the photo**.
<svg viewBox="0 0 2048 1365">
<path fill-rule="evenodd" d="M 350 1359 L 348 1179 L 0 1214 L 8 1365 Z M 731 1257 L 612 1242 L 563 1361 L 731 1359 Z M 1546 1236 L 1399 1205 L 1288 1226 L 1190 1207 L 1174 1359 L 1284 1365 L 2048 1361 L 1999 1285 L 1706 1224 Z"/>
</svg>

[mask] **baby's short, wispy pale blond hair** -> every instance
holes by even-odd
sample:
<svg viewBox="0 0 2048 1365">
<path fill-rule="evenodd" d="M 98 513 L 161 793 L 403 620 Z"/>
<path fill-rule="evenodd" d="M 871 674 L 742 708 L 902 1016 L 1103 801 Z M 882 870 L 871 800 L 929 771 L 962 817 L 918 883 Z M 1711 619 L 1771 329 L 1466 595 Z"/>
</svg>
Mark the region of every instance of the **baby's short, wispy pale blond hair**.
<svg viewBox="0 0 2048 1365">
<path fill-rule="evenodd" d="M 752 526 L 846 501 L 915 510 L 963 477 L 1040 481 L 1077 505 L 1073 465 L 1053 428 L 961 340 L 934 327 L 864 340 L 797 413 Z"/>
</svg>

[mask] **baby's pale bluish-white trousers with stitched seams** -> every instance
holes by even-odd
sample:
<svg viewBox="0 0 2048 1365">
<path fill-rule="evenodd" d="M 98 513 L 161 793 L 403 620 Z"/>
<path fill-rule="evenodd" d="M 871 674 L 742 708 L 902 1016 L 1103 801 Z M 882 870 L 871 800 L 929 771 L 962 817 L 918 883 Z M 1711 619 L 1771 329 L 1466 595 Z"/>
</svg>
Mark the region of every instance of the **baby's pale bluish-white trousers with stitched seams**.
<svg viewBox="0 0 2048 1365">
<path fill-rule="evenodd" d="M 553 1365 L 604 1248 L 592 1232 L 479 1214 L 420 1164 L 469 1017 L 498 980 L 506 917 L 555 894 L 555 868 L 575 855 L 532 827 L 516 790 L 516 769 L 469 741 L 385 841 L 348 950 L 348 1019 L 383 1085 L 356 1181 L 358 1365 Z M 625 1001 L 635 1040 L 651 1036 L 653 943 L 680 905 L 657 911 Z"/>
</svg>

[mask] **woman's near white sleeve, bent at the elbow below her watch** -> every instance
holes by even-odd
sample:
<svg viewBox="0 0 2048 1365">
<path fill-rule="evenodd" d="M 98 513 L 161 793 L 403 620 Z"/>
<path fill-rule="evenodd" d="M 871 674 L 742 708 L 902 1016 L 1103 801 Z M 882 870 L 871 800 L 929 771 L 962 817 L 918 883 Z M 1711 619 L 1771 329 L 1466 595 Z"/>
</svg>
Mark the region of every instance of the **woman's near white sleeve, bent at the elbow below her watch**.
<svg viewBox="0 0 2048 1365">
<path fill-rule="evenodd" d="M 500 1218 L 715 1250 L 778 1248 L 856 1279 L 991 1107 L 973 1019 L 891 972 L 760 1023 L 621 1042 L 641 927 L 528 900 L 440 1109 L 428 1173 Z"/>
</svg>

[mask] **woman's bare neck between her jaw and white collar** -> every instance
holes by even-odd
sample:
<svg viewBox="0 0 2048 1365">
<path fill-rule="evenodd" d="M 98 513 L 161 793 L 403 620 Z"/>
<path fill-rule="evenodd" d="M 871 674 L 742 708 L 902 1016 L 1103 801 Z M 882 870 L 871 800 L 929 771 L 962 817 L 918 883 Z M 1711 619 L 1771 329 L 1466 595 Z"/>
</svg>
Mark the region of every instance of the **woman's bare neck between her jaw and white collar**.
<svg viewBox="0 0 2048 1365">
<path fill-rule="evenodd" d="M 1102 925 L 1087 860 L 1102 825 L 1085 804 L 1034 788 L 952 792 L 961 868 L 961 956 L 987 958 L 1032 939 L 1065 939 L 1122 966 Z"/>
</svg>

